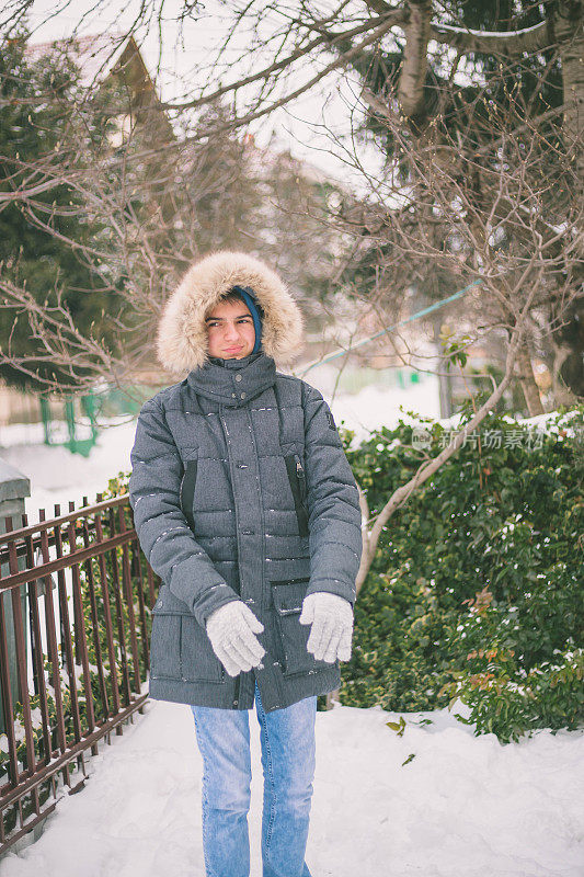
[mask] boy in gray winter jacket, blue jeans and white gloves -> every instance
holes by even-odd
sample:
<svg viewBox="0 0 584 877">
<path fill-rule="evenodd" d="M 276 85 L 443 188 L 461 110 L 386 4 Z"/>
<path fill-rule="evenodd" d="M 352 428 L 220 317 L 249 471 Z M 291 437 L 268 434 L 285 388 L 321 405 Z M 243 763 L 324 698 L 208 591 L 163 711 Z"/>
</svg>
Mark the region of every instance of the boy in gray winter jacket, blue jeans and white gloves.
<svg viewBox="0 0 584 877">
<path fill-rule="evenodd" d="M 208 877 L 248 877 L 249 710 L 262 745 L 263 877 L 305 862 L 317 695 L 351 657 L 362 536 L 355 479 L 318 390 L 276 372 L 301 343 L 280 278 L 245 253 L 194 263 L 165 305 L 130 504 L 161 577 L 150 696 L 188 704 Z"/>
</svg>

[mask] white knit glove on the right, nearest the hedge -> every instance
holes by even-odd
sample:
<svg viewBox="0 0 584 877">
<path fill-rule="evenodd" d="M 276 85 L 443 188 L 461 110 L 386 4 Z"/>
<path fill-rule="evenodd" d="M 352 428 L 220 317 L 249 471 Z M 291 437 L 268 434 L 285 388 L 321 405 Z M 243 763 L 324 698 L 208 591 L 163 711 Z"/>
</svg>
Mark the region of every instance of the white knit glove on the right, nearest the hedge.
<svg viewBox="0 0 584 877">
<path fill-rule="evenodd" d="M 353 636 L 353 607 L 348 600 L 328 591 L 309 594 L 302 602 L 300 624 L 312 624 L 306 645 L 317 661 L 348 661 Z"/>
</svg>

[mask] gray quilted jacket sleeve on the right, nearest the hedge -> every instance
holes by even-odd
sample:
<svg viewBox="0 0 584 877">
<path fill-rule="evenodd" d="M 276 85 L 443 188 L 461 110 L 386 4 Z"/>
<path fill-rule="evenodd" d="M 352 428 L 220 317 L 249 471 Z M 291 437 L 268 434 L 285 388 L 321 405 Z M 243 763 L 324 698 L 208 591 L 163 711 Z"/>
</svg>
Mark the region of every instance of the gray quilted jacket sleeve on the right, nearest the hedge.
<svg viewBox="0 0 584 877">
<path fill-rule="evenodd" d="M 329 406 L 308 384 L 304 397 L 310 546 L 307 594 L 329 591 L 353 606 L 363 550 L 357 485 Z"/>
</svg>

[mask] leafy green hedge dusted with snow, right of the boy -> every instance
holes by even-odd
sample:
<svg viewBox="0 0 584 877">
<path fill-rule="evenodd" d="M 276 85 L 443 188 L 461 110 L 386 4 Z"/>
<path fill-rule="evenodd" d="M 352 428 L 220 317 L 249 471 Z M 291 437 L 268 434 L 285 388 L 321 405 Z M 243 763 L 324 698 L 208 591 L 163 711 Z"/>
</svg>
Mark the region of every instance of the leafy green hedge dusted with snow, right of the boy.
<svg viewBox="0 0 584 877">
<path fill-rule="evenodd" d="M 450 438 L 408 414 L 413 426 L 357 447 L 343 431 L 371 515 Z M 356 602 L 341 703 L 412 711 L 460 698 L 461 720 L 502 741 L 582 725 L 583 423 L 583 406 L 545 433 L 491 414 L 393 514 Z"/>
</svg>

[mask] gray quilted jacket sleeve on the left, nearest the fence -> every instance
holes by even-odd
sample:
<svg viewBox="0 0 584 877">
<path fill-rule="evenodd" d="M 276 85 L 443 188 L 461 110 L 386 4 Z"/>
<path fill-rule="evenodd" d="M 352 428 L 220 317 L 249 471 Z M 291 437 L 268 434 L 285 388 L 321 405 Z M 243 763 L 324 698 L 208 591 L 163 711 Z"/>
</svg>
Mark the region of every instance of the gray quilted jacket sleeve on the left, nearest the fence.
<svg viewBox="0 0 584 877">
<path fill-rule="evenodd" d="M 205 627 L 211 612 L 239 600 L 196 542 L 180 504 L 183 463 L 164 412 L 152 399 L 138 415 L 129 503 L 140 547 L 154 572 Z"/>
</svg>

